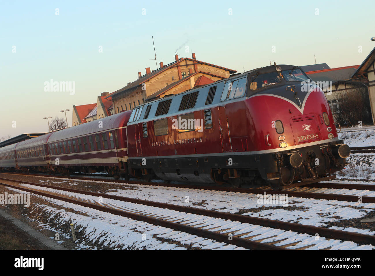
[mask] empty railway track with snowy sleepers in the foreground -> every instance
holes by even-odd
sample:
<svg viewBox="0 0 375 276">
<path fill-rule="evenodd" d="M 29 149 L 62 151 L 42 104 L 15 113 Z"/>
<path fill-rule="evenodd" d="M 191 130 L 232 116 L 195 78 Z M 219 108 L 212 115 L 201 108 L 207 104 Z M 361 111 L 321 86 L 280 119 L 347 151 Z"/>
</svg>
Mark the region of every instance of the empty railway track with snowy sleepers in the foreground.
<svg viewBox="0 0 375 276">
<path fill-rule="evenodd" d="M 366 235 L 366 234 L 359 234 L 359 233 L 354 233 L 354 232 L 348 232 L 348 231 L 342 231 L 342 230 L 336 230 L 336 229 L 330 229 L 330 228 L 324 228 L 324 227 L 317 227 L 317 226 L 309 226 L 309 225 L 302 225 L 302 224 L 297 224 L 297 223 L 290 223 L 290 222 L 281 222 L 278 220 L 270 220 L 270 219 L 264 219 L 264 218 L 258 218 L 258 217 L 249 217 L 249 216 L 243 216 L 239 214 L 231 214 L 231 213 L 224 213 L 220 211 L 213 211 L 213 210 L 205 210 L 205 209 L 200 209 L 200 208 L 194 208 L 194 207 L 186 207 L 186 206 L 180 206 L 180 205 L 174 205 L 174 204 L 166 204 L 166 203 L 160 203 L 160 202 L 154 202 L 154 201 L 147 201 L 147 200 L 142 200 L 142 199 L 135 199 L 135 198 L 127 198 L 123 196 L 116 196 L 116 195 L 108 195 L 105 193 L 97 193 L 97 192 L 89 192 L 85 190 L 77 190 L 77 189 L 71 189 L 71 188 L 64 188 L 64 187 L 57 187 L 57 186 L 52 186 L 52 185 L 47 185 L 47 184 L 40 184 L 40 183 L 34 183 L 34 182 L 26 182 L 26 181 L 18 181 L 18 180 L 13 180 L 13 179 L 7 179 L 7 178 L 0 178 L 1 180 L 5 181 L 10 181 L 10 182 L 16 182 L 16 183 L 22 183 L 22 184 L 28 184 L 28 185 L 33 185 L 33 186 L 39 186 L 39 187 L 44 187 L 48 189 L 55 189 L 55 190 L 60 190 L 60 191 L 65 191 L 65 192 L 73 192 L 73 193 L 78 193 L 78 194 L 83 194 L 83 195 L 90 195 L 90 196 L 96 196 L 99 197 L 101 196 L 102 198 L 108 198 L 108 199 L 114 199 L 118 201 L 123 201 L 123 202 L 131 202 L 139 205 L 146 205 L 146 206 L 152 206 L 152 207 L 158 207 L 158 208 L 165 208 L 168 210 L 174 210 L 174 211 L 179 211 L 183 213 L 190 213 L 190 214 L 197 214 L 200 216 L 207 216 L 207 217 L 214 217 L 214 218 L 219 218 L 223 220 L 231 220 L 231 221 L 236 221 L 240 223 L 248 223 L 252 225 L 259 225 L 259 226 L 265 226 L 265 227 L 272 227 L 275 229 L 283 229 L 286 231 L 295 231 L 298 233 L 305 233 L 309 235 L 319 235 L 321 237 L 326 237 L 326 238 L 334 238 L 334 239 L 339 239 L 343 241 L 353 241 L 359 244 L 372 244 L 375 246 L 375 236 L 374 235 Z M 51 193 L 46 193 L 46 192 L 40 192 L 39 190 L 35 189 L 28 189 L 22 186 L 15 186 L 9 183 L 0 183 L 3 186 L 7 187 L 12 187 L 15 189 L 21 189 L 30 193 L 36 193 L 38 195 L 43 195 L 47 196 L 50 198 L 54 199 L 60 199 L 63 201 L 68 201 L 74 204 L 78 204 L 81 206 L 86 206 L 90 208 L 95 208 L 97 210 L 105 211 L 108 213 L 112 214 L 118 214 L 121 216 L 129 217 L 132 219 L 136 220 L 141 220 L 144 222 L 149 222 L 155 225 L 159 226 L 164 226 L 167 228 L 171 228 L 174 230 L 182 231 L 182 232 L 187 232 L 189 234 L 195 234 L 199 235 L 201 237 L 206 237 L 206 238 L 211 238 L 213 240 L 221 241 L 224 243 L 228 243 L 228 234 L 231 233 L 231 231 L 226 232 L 226 233 L 220 233 L 223 231 L 228 231 L 228 229 L 220 229 L 220 231 L 208 231 L 203 230 L 201 228 L 205 228 L 207 226 L 201 226 L 201 227 L 193 227 L 193 226 L 187 226 L 186 224 L 180 224 L 180 223 L 174 223 L 171 221 L 166 221 L 165 219 L 156 219 L 153 216 L 144 216 L 144 214 L 141 214 L 142 212 L 139 212 L 139 210 L 132 210 L 132 211 L 118 211 L 115 210 L 114 208 L 108 208 L 105 206 L 100 206 L 96 204 L 91 204 L 87 202 L 83 202 L 77 199 L 71 199 L 71 198 L 66 198 L 62 197 L 60 195 L 51 195 Z M 120 212 L 120 213 L 119 213 Z M 147 212 L 146 212 L 147 213 Z M 168 217 L 170 219 L 170 217 Z M 174 219 L 174 218 L 172 218 Z M 187 223 L 191 224 L 191 223 Z M 202 225 L 202 223 L 199 223 L 197 225 Z M 209 225 L 208 225 L 209 226 Z M 192 229 L 194 228 L 194 229 Z M 217 229 L 218 227 L 212 228 L 211 230 Z M 237 231 L 232 231 L 233 234 Z M 289 246 L 294 246 L 300 243 L 301 241 L 290 243 L 287 245 L 282 245 L 282 246 L 275 246 L 274 244 L 279 243 L 281 241 L 286 240 L 287 238 L 281 239 L 281 240 L 276 240 L 276 241 L 271 241 L 271 242 L 265 242 L 261 243 L 261 241 L 267 240 L 268 238 L 273 238 L 272 237 L 267 237 L 267 238 L 262 238 L 260 240 L 249 240 L 250 238 L 255 238 L 256 236 L 260 235 L 251 235 L 250 237 L 244 237 L 242 236 L 247 236 L 249 235 L 250 232 L 245 232 L 243 234 L 236 234 L 234 237 L 236 238 L 234 242 L 229 242 L 231 244 L 234 244 L 236 246 L 242 246 L 248 249 L 285 249 L 286 247 Z M 297 249 L 303 250 L 308 247 L 314 246 L 315 244 L 310 244 L 308 246 L 302 246 L 298 247 Z M 275 248 L 276 247 L 276 248 Z M 280 247 L 280 248 L 279 248 Z M 326 248 L 329 249 L 329 248 Z"/>
</svg>

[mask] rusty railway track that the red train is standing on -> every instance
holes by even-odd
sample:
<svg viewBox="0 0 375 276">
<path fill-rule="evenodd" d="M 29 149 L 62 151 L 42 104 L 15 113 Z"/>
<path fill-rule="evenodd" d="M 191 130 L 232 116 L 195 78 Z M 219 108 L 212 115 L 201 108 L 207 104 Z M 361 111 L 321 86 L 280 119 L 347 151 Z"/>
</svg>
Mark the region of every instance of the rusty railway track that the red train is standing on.
<svg viewBox="0 0 375 276">
<path fill-rule="evenodd" d="M 15 175 L 25 175 L 22 173 L 9 173 Z M 375 203 L 375 197 L 373 196 L 355 196 L 355 195 L 342 195 L 342 194 L 334 194 L 334 193 L 315 193 L 315 192 L 297 192 L 297 191 L 274 191 L 271 189 L 262 189 L 262 188 L 232 188 L 232 187 L 217 187 L 217 186 L 199 186 L 193 184 L 166 184 L 166 183 L 159 183 L 159 182 L 145 182 L 145 181 L 132 181 L 132 180 L 116 180 L 116 179 L 101 179 L 101 178 L 87 178 L 87 177 L 79 177 L 79 178 L 68 178 L 66 176 L 54 175 L 54 176 L 47 176 L 47 175 L 40 175 L 40 174 L 30 174 L 29 176 L 39 176 L 39 177 L 50 177 L 50 178 L 63 178 L 63 179 L 73 179 L 73 180 L 86 180 L 86 181 L 97 181 L 97 182 L 115 182 L 115 183 L 122 183 L 122 184 L 140 184 L 140 185 L 147 185 L 147 186 L 159 186 L 159 187 L 172 187 L 172 188 L 186 188 L 186 189 L 200 189 L 200 190 L 211 190 L 211 191 L 221 191 L 221 192 L 237 192 L 237 193 L 254 193 L 254 194 L 264 194 L 267 195 L 280 195 L 281 193 L 287 193 L 288 196 L 294 196 L 297 198 L 314 198 L 314 199 L 327 199 L 327 200 L 338 200 L 338 201 L 348 201 L 348 202 L 359 202 L 361 199 L 362 203 Z M 317 185 L 318 184 L 318 185 Z M 321 185 L 324 186 L 324 183 L 316 183 L 311 185 Z M 336 187 L 341 187 L 340 184 Z M 350 184 L 348 186 L 357 187 L 359 188 L 360 184 Z M 365 186 L 365 185 L 364 185 Z M 369 187 L 367 187 L 369 186 Z M 344 186 L 342 186 L 344 187 Z M 366 185 L 369 190 L 374 189 L 370 185 Z M 325 186 L 325 188 L 335 188 L 335 185 L 332 186 Z M 356 189 L 357 189 L 356 188 Z M 346 189 L 346 188 L 342 188 Z"/>
</svg>

